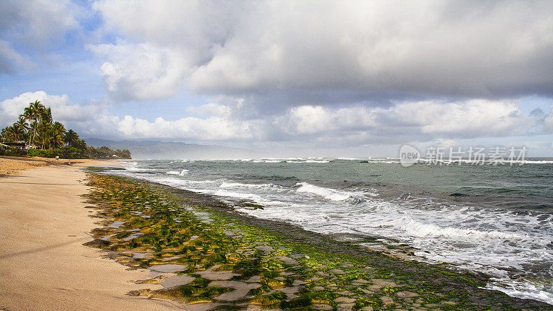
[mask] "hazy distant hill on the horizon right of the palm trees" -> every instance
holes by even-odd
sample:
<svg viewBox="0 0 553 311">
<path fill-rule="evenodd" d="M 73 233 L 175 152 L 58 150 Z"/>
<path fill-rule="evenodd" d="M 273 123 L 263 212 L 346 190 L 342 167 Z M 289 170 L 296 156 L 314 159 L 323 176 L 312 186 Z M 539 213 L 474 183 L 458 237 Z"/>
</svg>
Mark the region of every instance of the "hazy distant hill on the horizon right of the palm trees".
<svg viewBox="0 0 553 311">
<path fill-rule="evenodd" d="M 94 147 L 106 146 L 111 149 L 129 149 L 133 159 L 186 159 L 214 160 L 252 158 L 254 151 L 216 145 L 186 144 L 184 142 L 158 142 L 149 140 L 101 140 L 86 139 L 86 144 Z"/>
</svg>

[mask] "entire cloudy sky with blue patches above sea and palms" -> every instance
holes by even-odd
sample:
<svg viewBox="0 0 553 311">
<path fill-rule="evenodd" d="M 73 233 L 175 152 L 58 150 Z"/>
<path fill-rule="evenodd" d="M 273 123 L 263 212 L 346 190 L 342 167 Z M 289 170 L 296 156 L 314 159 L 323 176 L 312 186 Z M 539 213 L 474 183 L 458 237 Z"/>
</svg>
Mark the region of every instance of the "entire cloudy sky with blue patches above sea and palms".
<svg viewBox="0 0 553 311">
<path fill-rule="evenodd" d="M 553 156 L 553 1 L 0 0 L 0 126 L 397 156 Z"/>
</svg>

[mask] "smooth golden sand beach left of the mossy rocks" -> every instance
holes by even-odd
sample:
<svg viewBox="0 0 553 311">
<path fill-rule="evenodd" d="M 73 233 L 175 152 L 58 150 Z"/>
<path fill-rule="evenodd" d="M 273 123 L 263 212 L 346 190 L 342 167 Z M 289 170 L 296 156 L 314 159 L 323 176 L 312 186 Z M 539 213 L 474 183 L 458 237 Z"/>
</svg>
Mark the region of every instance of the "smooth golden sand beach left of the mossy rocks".
<svg viewBox="0 0 553 311">
<path fill-rule="evenodd" d="M 147 270 L 127 270 L 102 258 L 91 241 L 95 218 L 80 197 L 88 191 L 79 166 L 105 161 L 76 160 L 77 166 L 48 160 L 1 158 L 13 173 L 0 178 L 1 310 L 165 310 L 180 305 L 127 296 L 130 290 L 160 288 L 135 284 Z M 10 163 L 12 165 L 8 166 Z M 113 163 L 108 165 L 113 165 Z M 48 165 L 50 164 L 50 165 Z"/>
</svg>

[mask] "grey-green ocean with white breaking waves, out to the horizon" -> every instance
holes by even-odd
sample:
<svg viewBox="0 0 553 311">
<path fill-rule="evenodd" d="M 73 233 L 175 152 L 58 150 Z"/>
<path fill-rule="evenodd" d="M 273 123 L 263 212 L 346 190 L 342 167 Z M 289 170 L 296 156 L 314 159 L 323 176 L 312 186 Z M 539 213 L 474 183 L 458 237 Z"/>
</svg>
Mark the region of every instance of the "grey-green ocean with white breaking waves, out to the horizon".
<svg viewBox="0 0 553 311">
<path fill-rule="evenodd" d="M 485 272 L 487 288 L 553 304 L 553 160 L 400 165 L 399 159 L 129 160 L 113 170 L 337 238 L 409 245 L 417 260 Z M 356 240 L 357 239 L 357 240 Z"/>
</svg>

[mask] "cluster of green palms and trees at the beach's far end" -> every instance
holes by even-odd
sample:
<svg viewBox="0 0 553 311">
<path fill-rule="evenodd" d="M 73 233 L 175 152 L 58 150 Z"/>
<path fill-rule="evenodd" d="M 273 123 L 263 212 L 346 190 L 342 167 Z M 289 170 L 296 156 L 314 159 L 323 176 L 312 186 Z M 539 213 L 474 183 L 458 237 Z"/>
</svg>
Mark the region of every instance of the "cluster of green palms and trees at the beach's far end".
<svg viewBox="0 0 553 311">
<path fill-rule="evenodd" d="M 54 121 L 52 109 L 40 101 L 30 102 L 18 120 L 0 131 L 0 142 L 20 142 L 24 149 L 3 149 L 1 154 L 12 156 L 42 156 L 46 158 L 131 158 L 131 151 L 108 147 L 87 146 L 73 129 Z"/>
</svg>

